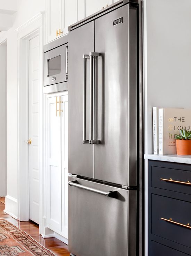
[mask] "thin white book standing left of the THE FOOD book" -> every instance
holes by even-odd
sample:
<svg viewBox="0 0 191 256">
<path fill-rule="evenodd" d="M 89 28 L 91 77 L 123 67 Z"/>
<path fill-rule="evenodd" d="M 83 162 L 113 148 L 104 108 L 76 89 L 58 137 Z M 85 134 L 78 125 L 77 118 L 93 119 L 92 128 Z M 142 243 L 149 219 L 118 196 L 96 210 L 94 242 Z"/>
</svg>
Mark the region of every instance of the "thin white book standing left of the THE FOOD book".
<svg viewBox="0 0 191 256">
<path fill-rule="evenodd" d="M 158 154 L 158 110 L 159 107 L 152 108 L 153 154 Z"/>
</svg>

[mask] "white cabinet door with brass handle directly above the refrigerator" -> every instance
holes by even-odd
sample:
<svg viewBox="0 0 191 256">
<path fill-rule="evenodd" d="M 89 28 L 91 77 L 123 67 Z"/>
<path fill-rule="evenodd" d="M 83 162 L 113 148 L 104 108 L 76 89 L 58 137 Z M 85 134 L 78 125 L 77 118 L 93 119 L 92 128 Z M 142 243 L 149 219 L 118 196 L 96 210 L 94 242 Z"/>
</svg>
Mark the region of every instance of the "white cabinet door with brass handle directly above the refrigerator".
<svg viewBox="0 0 191 256">
<path fill-rule="evenodd" d="M 109 4 L 108 0 L 86 0 L 85 1 L 85 16 L 88 17 L 93 13 L 98 12 L 103 7 L 105 8 Z"/>
</svg>

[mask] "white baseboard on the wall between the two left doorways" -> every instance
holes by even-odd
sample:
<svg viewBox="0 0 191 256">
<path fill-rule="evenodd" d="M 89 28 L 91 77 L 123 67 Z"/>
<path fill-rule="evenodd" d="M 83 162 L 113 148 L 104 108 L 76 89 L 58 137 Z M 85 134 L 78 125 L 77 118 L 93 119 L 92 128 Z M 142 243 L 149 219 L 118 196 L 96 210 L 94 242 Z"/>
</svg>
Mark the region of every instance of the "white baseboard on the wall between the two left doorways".
<svg viewBox="0 0 191 256">
<path fill-rule="evenodd" d="M 14 219 L 18 219 L 18 203 L 16 198 L 6 195 L 4 212 Z"/>
</svg>

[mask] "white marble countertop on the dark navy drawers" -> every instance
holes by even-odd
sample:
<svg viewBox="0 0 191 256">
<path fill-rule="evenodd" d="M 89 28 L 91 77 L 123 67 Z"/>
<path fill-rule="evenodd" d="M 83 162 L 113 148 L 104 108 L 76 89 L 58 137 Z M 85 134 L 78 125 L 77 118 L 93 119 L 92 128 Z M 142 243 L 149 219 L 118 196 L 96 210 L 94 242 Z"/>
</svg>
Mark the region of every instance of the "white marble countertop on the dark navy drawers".
<svg viewBox="0 0 191 256">
<path fill-rule="evenodd" d="M 182 164 L 191 164 L 191 156 L 178 156 L 178 155 L 144 155 L 144 159 L 167 161 Z"/>
</svg>

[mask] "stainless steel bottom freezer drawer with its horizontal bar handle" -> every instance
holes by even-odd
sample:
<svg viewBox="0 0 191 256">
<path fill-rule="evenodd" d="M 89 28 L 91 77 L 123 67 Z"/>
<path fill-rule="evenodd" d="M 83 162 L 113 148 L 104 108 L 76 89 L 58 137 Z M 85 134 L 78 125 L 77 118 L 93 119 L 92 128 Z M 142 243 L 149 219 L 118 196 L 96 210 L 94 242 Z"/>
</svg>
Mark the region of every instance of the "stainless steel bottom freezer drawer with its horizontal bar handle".
<svg viewBox="0 0 191 256">
<path fill-rule="evenodd" d="M 76 256 L 136 255 L 136 190 L 69 176 L 69 251 Z"/>
</svg>

